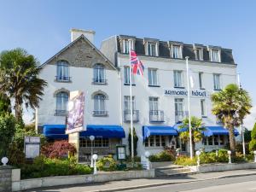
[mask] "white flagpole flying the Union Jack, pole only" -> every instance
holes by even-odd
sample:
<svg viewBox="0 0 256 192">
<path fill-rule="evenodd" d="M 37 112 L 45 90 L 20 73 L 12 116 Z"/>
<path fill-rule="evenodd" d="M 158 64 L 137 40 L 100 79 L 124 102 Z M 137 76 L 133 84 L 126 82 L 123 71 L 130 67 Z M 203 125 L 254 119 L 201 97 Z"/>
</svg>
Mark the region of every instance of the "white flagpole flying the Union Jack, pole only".
<svg viewBox="0 0 256 192">
<path fill-rule="evenodd" d="M 132 71 L 131 71 L 131 41 L 129 41 L 130 45 L 130 119 L 131 119 L 131 161 L 134 160 L 134 147 L 133 147 L 133 109 L 132 109 Z"/>
</svg>

